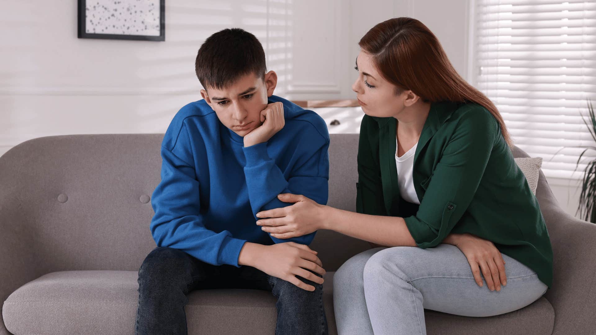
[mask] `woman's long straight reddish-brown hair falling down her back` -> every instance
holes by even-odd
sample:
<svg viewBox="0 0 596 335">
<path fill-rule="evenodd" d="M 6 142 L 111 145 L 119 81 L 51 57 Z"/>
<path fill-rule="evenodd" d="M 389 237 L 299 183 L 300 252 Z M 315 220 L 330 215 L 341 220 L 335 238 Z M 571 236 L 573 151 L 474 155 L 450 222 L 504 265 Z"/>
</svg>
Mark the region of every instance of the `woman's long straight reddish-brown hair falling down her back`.
<svg viewBox="0 0 596 335">
<path fill-rule="evenodd" d="M 501 125 L 505 142 L 513 141 L 495 104 L 467 83 L 449 62 L 439 40 L 423 23 L 410 17 L 383 21 L 362 37 L 358 45 L 373 55 L 381 75 L 401 90 L 412 90 L 424 102 L 476 103 L 491 112 Z"/>
</svg>

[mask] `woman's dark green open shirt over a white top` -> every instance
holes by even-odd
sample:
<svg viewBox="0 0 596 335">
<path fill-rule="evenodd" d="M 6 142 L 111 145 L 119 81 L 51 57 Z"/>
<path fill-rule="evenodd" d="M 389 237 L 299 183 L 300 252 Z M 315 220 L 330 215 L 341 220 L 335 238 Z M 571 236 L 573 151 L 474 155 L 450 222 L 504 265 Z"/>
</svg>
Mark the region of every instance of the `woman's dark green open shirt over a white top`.
<svg viewBox="0 0 596 335">
<path fill-rule="evenodd" d="M 431 105 L 414 154 L 420 205 L 399 193 L 396 126 L 394 117 L 362 119 L 356 211 L 402 217 L 423 249 L 451 232 L 477 235 L 551 287 L 552 247 L 538 200 L 492 114 L 477 104 Z"/>
</svg>

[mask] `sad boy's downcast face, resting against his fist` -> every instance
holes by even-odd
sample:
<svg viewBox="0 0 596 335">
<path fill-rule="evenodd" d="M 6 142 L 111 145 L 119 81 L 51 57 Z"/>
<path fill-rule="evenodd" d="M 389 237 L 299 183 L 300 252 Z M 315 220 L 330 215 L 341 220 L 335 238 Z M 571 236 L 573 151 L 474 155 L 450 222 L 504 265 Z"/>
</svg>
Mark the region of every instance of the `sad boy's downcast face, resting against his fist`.
<svg viewBox="0 0 596 335">
<path fill-rule="evenodd" d="M 250 73 L 224 89 L 201 89 L 201 96 L 224 126 L 244 137 L 262 124 L 260 112 L 267 107 L 267 97 L 273 95 L 276 85 L 277 74 L 273 71 L 264 79 Z"/>
</svg>

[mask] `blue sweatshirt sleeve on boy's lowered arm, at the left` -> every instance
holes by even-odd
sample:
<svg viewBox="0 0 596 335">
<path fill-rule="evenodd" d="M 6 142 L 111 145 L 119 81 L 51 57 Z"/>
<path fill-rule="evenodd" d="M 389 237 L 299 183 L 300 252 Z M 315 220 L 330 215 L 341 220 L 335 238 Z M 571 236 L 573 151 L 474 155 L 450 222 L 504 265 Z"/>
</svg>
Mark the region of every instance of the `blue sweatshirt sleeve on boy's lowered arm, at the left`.
<svg viewBox="0 0 596 335">
<path fill-rule="evenodd" d="M 176 147 L 179 145 L 186 144 L 179 141 Z M 192 160 L 182 160 L 163 146 L 161 156 L 162 181 L 151 196 L 155 211 L 151 234 L 157 246 L 182 250 L 213 265 L 239 266 L 238 255 L 246 240 L 234 238 L 226 230 L 215 232 L 205 227 L 195 168 L 186 161 Z"/>
</svg>

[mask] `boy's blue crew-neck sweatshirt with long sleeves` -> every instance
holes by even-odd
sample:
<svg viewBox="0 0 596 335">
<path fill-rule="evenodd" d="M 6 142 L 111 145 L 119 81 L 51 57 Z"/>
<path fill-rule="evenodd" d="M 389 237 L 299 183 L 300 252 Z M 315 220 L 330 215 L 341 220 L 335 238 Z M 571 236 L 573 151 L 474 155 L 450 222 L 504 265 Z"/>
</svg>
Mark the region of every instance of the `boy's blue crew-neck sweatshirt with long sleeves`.
<svg viewBox="0 0 596 335">
<path fill-rule="evenodd" d="M 284 104 L 284 128 L 250 147 L 204 100 L 176 113 L 162 142 L 162 181 L 151 196 L 157 246 L 213 265 L 239 266 L 246 241 L 311 243 L 314 232 L 280 240 L 256 225 L 256 213 L 291 205 L 278 200 L 280 193 L 327 203 L 327 126 L 315 112 L 269 97 L 269 103 L 278 101 Z"/>
</svg>

